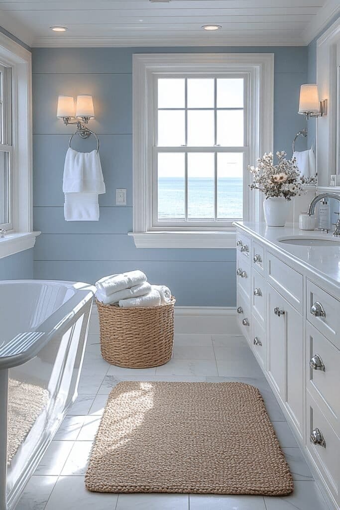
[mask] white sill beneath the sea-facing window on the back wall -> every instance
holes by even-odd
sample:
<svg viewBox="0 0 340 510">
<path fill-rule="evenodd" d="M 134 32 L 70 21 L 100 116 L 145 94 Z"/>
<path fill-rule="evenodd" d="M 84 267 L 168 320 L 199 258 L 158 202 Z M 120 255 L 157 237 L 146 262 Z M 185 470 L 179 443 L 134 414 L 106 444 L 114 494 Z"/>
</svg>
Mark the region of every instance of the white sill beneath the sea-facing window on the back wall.
<svg viewBox="0 0 340 510">
<path fill-rule="evenodd" d="M 236 231 L 129 232 L 137 248 L 235 248 Z"/>
</svg>

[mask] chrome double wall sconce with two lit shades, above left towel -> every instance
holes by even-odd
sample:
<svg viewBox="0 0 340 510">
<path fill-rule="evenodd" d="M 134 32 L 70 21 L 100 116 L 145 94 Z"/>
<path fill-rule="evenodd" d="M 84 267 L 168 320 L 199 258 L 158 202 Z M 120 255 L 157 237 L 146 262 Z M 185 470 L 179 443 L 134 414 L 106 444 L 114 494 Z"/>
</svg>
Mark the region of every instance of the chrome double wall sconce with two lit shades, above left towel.
<svg viewBox="0 0 340 510">
<path fill-rule="evenodd" d="M 82 138 L 87 138 L 92 131 L 86 127 L 90 119 L 94 119 L 93 99 L 90 95 L 79 95 L 74 100 L 71 96 L 58 96 L 57 118 L 63 119 L 64 124 L 76 124 L 77 133 Z M 72 119 L 75 119 L 72 122 Z"/>
</svg>

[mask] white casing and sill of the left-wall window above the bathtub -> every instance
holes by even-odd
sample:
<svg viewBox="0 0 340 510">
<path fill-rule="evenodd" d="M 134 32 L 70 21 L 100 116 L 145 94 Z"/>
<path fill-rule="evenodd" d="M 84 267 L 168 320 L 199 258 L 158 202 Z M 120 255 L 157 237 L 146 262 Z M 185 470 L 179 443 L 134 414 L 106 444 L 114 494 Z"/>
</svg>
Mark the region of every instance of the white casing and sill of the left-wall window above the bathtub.
<svg viewBox="0 0 340 510">
<path fill-rule="evenodd" d="M 11 67 L 12 82 L 12 211 L 5 237 L 0 238 L 0 259 L 33 248 L 32 195 L 32 55 L 0 34 L 0 63 Z"/>
</svg>

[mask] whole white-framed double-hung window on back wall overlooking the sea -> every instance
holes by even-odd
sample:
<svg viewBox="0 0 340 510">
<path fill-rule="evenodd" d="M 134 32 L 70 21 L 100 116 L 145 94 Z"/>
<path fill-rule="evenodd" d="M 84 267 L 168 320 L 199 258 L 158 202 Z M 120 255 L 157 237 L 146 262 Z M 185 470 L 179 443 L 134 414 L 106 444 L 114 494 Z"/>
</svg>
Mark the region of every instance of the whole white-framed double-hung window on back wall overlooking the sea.
<svg viewBox="0 0 340 510">
<path fill-rule="evenodd" d="M 231 247 L 258 219 L 247 166 L 273 145 L 272 54 L 134 55 L 138 247 Z"/>
</svg>

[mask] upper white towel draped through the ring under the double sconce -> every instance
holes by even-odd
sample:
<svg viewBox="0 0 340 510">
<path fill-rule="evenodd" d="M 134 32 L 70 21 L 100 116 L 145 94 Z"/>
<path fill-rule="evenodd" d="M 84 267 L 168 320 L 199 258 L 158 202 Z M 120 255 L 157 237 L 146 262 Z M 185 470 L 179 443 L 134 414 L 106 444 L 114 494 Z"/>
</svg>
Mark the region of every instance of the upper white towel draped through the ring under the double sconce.
<svg viewBox="0 0 340 510">
<path fill-rule="evenodd" d="M 67 149 L 63 176 L 64 193 L 105 193 L 99 154 Z"/>
</svg>

